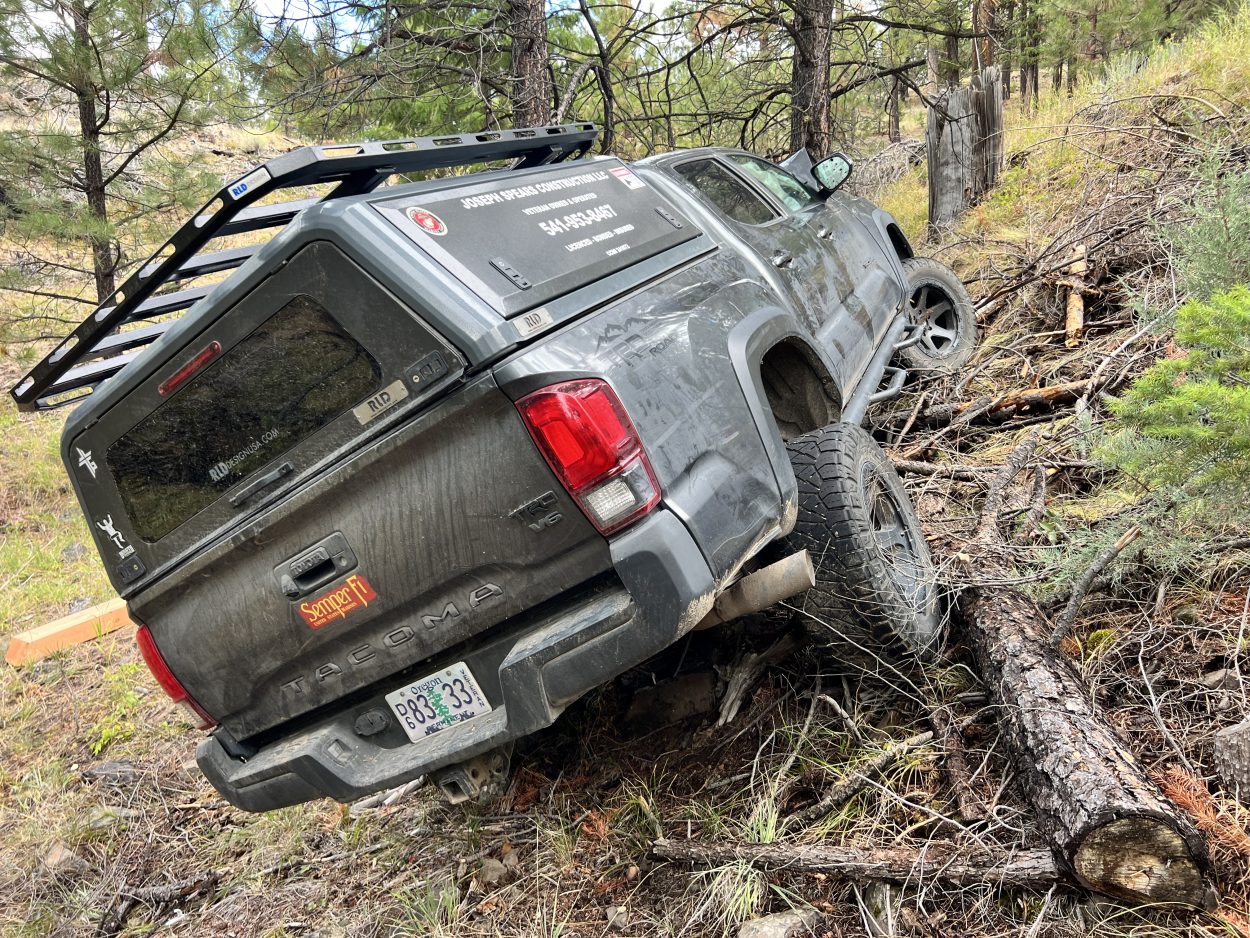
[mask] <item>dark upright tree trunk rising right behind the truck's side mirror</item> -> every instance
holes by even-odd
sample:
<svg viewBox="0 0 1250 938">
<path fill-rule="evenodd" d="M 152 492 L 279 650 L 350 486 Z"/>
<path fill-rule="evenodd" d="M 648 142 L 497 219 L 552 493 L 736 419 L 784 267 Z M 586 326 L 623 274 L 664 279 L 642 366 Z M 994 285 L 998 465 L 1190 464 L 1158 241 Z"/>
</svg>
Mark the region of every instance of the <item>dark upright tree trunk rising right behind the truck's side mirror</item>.
<svg viewBox="0 0 1250 938">
<path fill-rule="evenodd" d="M 808 150 L 812 161 L 830 150 L 829 55 L 834 0 L 800 0 L 794 13 L 790 61 L 790 153 Z"/>
</svg>

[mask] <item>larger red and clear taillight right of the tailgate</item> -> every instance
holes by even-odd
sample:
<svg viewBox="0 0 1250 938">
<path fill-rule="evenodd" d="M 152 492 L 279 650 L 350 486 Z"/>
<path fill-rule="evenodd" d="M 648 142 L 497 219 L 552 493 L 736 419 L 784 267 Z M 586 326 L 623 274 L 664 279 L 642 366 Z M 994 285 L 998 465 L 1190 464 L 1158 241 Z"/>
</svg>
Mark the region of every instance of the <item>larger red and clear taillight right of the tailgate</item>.
<svg viewBox="0 0 1250 938">
<path fill-rule="evenodd" d="M 650 512 L 660 487 L 634 423 L 608 381 L 582 378 L 516 401 L 560 484 L 601 534 Z"/>
</svg>

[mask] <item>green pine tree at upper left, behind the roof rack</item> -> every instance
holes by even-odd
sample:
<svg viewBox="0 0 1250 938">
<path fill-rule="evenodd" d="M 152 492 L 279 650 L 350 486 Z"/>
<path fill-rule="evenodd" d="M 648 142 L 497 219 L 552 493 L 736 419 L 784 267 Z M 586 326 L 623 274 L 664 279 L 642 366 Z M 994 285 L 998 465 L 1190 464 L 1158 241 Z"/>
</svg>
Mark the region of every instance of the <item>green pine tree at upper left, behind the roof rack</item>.
<svg viewBox="0 0 1250 938">
<path fill-rule="evenodd" d="M 211 0 L 0 6 L 0 75 L 26 111 L 25 128 L 0 131 L 0 289 L 24 305 L 102 301 L 142 259 L 144 220 L 202 196 L 170 145 L 229 99 L 238 23 Z"/>
</svg>

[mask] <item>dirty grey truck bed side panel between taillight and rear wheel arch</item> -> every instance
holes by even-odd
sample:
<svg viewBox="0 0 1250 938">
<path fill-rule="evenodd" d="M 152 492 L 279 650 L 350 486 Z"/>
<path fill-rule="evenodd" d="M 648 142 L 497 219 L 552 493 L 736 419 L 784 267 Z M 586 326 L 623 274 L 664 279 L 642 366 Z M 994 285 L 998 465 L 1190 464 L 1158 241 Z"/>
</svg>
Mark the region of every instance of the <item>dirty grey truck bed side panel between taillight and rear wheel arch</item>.
<svg viewBox="0 0 1250 938">
<path fill-rule="evenodd" d="M 606 378 L 641 434 L 664 503 L 724 578 L 792 512 L 781 492 L 730 346 L 749 315 L 778 309 L 732 251 L 652 284 L 498 370 L 511 396 L 554 378 Z M 780 310 L 778 310 L 780 311 Z M 784 315 L 784 314 L 782 314 Z M 798 330 L 798 325 L 795 326 Z"/>
</svg>

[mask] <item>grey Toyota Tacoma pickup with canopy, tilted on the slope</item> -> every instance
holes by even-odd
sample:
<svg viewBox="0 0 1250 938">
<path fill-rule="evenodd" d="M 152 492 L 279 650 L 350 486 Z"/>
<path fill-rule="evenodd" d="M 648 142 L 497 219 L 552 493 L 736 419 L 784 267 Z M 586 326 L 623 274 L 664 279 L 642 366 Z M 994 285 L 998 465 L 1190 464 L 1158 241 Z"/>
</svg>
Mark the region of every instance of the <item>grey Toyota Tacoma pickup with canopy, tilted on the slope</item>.
<svg viewBox="0 0 1250 938">
<path fill-rule="evenodd" d="M 966 359 L 962 285 L 841 155 L 595 136 L 279 156 L 12 389 L 78 403 L 66 469 L 232 804 L 476 797 L 591 688 L 781 599 L 835 658 L 934 644 L 859 424 Z"/>
</svg>

